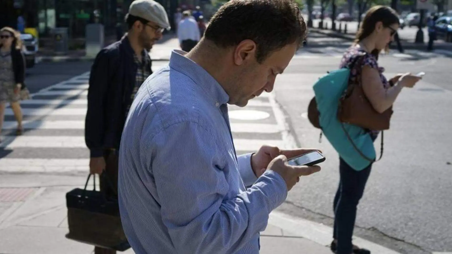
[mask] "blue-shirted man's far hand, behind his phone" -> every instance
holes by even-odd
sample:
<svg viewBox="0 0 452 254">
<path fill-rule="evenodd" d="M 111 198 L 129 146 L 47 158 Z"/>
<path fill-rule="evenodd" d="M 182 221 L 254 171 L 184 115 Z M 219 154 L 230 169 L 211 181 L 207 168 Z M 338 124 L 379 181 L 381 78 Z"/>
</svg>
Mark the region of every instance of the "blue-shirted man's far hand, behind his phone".
<svg viewBox="0 0 452 254">
<path fill-rule="evenodd" d="M 305 154 L 311 151 L 320 151 L 313 148 L 299 148 L 292 150 L 280 150 L 276 146 L 262 146 L 257 153 L 251 155 L 251 167 L 253 168 L 256 177 L 260 177 L 264 174 L 270 161 L 276 158 L 278 155 L 285 155 L 287 160 Z"/>
</svg>

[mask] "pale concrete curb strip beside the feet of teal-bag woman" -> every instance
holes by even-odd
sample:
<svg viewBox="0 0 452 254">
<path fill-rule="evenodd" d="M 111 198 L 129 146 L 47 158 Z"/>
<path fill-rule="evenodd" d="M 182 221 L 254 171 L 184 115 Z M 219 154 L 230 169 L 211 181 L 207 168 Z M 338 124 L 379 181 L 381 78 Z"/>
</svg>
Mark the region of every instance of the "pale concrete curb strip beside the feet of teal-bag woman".
<svg viewBox="0 0 452 254">
<path fill-rule="evenodd" d="M 282 228 L 282 230 L 286 230 L 323 246 L 329 246 L 333 240 L 333 229 L 331 227 L 290 216 L 282 212 L 273 211 L 270 213 L 268 223 L 277 225 Z M 360 247 L 372 250 L 372 254 L 400 254 L 399 252 L 356 236 L 353 236 L 353 243 Z"/>
</svg>

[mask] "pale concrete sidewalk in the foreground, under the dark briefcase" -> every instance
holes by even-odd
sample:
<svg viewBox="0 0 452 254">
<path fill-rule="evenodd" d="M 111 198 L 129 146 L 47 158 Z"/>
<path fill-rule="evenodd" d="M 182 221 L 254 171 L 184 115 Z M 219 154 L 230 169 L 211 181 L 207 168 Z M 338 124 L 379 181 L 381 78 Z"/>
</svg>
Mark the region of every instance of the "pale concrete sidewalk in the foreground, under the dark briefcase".
<svg viewBox="0 0 452 254">
<path fill-rule="evenodd" d="M 0 177 L 0 253 L 90 254 L 93 246 L 65 238 L 66 192 L 83 188 L 86 175 L 2 174 Z M 61 184 L 60 184 L 61 183 Z M 270 215 L 261 232 L 261 254 L 330 254 L 330 249 L 278 226 Z M 282 223 L 284 224 L 284 223 Z M 125 254 L 133 254 L 129 249 Z"/>
</svg>

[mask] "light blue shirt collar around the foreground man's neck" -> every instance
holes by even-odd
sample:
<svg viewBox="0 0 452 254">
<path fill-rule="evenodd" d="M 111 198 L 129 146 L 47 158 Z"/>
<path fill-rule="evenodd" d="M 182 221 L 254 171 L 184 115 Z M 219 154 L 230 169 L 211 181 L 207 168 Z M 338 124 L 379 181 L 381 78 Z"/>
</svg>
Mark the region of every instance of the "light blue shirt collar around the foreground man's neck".
<svg viewBox="0 0 452 254">
<path fill-rule="evenodd" d="M 223 87 L 197 63 L 185 57 L 187 52 L 173 50 L 170 57 L 170 67 L 187 75 L 197 85 L 199 85 L 213 100 L 216 107 L 226 104 L 229 101 L 229 95 Z"/>
</svg>

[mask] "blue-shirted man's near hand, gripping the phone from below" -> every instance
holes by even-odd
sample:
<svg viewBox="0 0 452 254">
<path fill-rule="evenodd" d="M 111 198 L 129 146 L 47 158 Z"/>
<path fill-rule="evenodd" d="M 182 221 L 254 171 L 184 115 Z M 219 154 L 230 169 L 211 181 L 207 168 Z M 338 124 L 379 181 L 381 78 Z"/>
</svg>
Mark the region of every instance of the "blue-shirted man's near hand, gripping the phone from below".
<svg viewBox="0 0 452 254">
<path fill-rule="evenodd" d="M 286 156 L 279 155 L 268 164 L 267 169 L 271 169 L 281 175 L 282 179 L 286 182 L 287 190 L 289 191 L 300 180 L 300 176 L 319 172 L 320 166 L 291 166 L 287 164 Z"/>
</svg>

